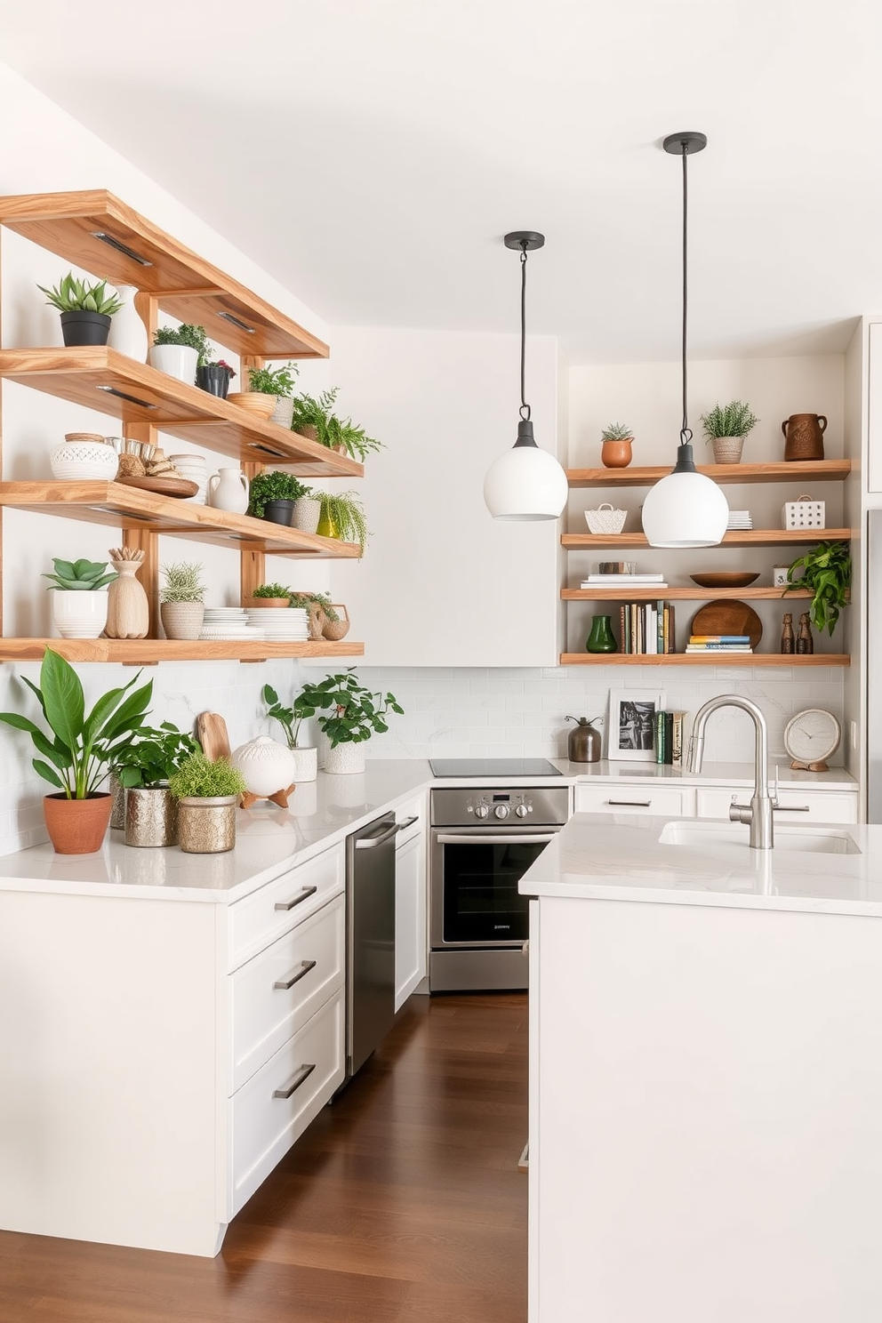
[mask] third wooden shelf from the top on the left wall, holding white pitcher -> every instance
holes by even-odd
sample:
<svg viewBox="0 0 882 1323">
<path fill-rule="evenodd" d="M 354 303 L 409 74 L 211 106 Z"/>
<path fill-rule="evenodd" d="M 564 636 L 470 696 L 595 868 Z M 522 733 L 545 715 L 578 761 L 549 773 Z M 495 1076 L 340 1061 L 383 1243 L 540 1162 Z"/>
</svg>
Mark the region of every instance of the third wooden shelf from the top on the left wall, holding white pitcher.
<svg viewBox="0 0 882 1323">
<path fill-rule="evenodd" d="M 38 515 L 82 519 L 90 524 L 108 524 L 111 528 L 145 529 L 218 546 L 235 545 L 238 550 L 263 552 L 267 556 L 320 556 L 333 560 L 358 560 L 361 556 L 357 542 L 301 533 L 266 519 L 157 496 L 122 483 L 0 483 L 0 507 L 4 505 Z"/>
</svg>

